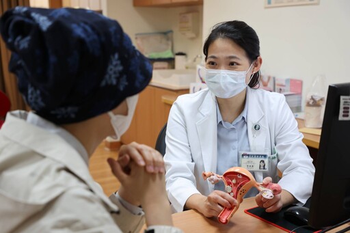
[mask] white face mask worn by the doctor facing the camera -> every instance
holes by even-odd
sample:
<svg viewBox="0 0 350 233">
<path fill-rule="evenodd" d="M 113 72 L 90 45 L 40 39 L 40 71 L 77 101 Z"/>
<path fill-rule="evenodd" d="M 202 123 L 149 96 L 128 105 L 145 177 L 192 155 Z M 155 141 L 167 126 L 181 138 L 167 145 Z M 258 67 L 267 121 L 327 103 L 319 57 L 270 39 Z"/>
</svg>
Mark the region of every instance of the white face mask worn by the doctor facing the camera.
<svg viewBox="0 0 350 233">
<path fill-rule="evenodd" d="M 236 96 L 247 87 L 245 76 L 252 65 L 253 64 L 250 65 L 247 71 L 205 69 L 206 85 L 209 90 L 219 98 L 231 98 L 232 96 Z M 250 80 L 253 75 L 254 74 L 250 77 Z"/>
</svg>

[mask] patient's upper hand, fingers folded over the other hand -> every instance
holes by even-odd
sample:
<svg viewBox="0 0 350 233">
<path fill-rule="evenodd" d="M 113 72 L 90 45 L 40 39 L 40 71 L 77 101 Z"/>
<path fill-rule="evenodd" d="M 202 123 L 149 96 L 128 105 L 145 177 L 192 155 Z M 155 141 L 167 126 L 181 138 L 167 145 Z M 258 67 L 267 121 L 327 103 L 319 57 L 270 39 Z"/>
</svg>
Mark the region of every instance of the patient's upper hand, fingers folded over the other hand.
<svg viewBox="0 0 350 233">
<path fill-rule="evenodd" d="M 129 173 L 131 161 L 135 161 L 139 166 L 146 166 L 147 172 L 164 173 L 165 171 L 163 156 L 150 146 L 134 141 L 121 146 L 118 154 L 118 163 L 120 163 L 125 173 Z"/>
</svg>

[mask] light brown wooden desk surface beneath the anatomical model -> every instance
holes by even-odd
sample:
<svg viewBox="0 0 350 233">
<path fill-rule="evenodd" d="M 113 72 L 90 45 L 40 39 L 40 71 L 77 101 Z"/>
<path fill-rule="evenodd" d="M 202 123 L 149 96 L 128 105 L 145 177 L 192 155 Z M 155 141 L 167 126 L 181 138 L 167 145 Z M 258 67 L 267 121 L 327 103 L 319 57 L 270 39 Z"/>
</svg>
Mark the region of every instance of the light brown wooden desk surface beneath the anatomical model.
<svg viewBox="0 0 350 233">
<path fill-rule="evenodd" d="M 181 213 L 172 215 L 173 223 L 177 228 L 183 230 L 183 232 L 261 232 L 261 233 L 275 233 L 284 232 L 280 228 L 266 223 L 256 217 L 247 215 L 244 210 L 247 208 L 253 208 L 256 206 L 254 197 L 246 198 L 243 200 L 237 212 L 233 215 L 230 223 L 223 225 L 217 221 L 217 219 L 208 219 L 204 215 L 198 213 L 196 210 L 187 210 Z M 349 227 L 350 223 L 336 228 L 329 232 L 337 232 L 340 229 Z M 299 230 L 299 232 L 301 232 Z"/>
</svg>

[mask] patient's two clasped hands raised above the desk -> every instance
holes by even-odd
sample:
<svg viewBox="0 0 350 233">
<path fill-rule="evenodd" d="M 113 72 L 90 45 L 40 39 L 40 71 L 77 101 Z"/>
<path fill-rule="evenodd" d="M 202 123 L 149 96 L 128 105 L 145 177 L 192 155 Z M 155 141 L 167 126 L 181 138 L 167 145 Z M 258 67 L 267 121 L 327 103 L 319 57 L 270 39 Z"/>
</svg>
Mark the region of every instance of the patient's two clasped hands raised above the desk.
<svg viewBox="0 0 350 233">
<path fill-rule="evenodd" d="M 144 208 L 150 198 L 166 197 L 163 156 L 157 150 L 133 142 L 120 148 L 117 160 L 107 161 L 121 183 L 118 194 L 126 202 Z"/>
</svg>

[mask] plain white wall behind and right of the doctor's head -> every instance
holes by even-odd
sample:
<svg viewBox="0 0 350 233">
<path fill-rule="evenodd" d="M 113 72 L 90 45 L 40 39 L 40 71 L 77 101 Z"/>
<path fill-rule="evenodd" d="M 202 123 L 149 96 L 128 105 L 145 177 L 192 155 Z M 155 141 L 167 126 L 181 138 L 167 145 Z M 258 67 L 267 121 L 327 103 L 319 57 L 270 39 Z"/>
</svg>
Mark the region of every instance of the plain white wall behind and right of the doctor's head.
<svg viewBox="0 0 350 233">
<path fill-rule="evenodd" d="M 303 96 L 317 74 L 325 74 L 327 85 L 350 82 L 349 0 L 284 8 L 264 8 L 263 0 L 204 0 L 203 40 L 226 20 L 243 20 L 255 29 L 261 71 L 302 79 Z"/>
</svg>

